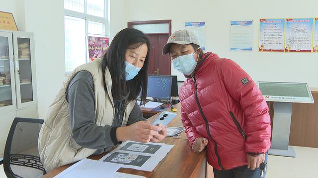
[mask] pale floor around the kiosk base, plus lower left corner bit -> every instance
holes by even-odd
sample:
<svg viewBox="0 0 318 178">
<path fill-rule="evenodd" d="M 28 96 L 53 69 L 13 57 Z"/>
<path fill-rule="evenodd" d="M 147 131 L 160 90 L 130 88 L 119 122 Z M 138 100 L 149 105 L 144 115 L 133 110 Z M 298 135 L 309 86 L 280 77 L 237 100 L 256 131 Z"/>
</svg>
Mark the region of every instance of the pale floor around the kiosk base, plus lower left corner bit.
<svg viewBox="0 0 318 178">
<path fill-rule="evenodd" d="M 318 148 L 294 147 L 296 158 L 269 156 L 266 178 L 318 178 Z M 0 178 L 5 178 L 0 165 Z"/>
</svg>

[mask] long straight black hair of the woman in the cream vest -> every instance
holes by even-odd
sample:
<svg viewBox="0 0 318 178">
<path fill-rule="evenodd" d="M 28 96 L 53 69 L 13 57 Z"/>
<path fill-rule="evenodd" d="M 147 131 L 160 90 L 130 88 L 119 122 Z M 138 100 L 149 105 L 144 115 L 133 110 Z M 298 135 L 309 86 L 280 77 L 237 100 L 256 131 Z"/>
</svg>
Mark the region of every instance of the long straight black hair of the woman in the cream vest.
<svg viewBox="0 0 318 178">
<path fill-rule="evenodd" d="M 141 68 L 134 79 L 126 81 L 125 54 L 128 49 L 136 49 L 143 44 L 147 44 L 148 51 Z M 150 41 L 149 38 L 140 30 L 125 28 L 116 34 L 109 45 L 102 61 L 102 71 L 105 73 L 106 67 L 111 75 L 112 89 L 111 94 L 115 100 L 122 100 L 123 96 L 128 95 L 128 100 L 134 100 L 141 92 L 141 100 L 146 101 L 148 86 L 148 64 L 150 60 Z M 104 76 L 105 78 L 105 76 Z M 105 80 L 104 88 L 106 89 Z"/>
</svg>

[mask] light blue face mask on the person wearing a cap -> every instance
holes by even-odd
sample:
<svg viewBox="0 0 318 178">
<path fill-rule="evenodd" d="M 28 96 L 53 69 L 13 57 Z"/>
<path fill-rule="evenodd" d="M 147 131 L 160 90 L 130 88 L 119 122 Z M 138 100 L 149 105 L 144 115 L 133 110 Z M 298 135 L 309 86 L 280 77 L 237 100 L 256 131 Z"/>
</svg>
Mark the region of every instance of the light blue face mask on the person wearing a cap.
<svg viewBox="0 0 318 178">
<path fill-rule="evenodd" d="M 181 72 L 184 75 L 190 75 L 194 71 L 198 64 L 198 59 L 195 61 L 193 55 L 198 51 L 198 49 L 192 53 L 183 56 L 179 56 L 171 61 L 174 69 Z M 198 56 L 199 58 L 199 56 Z"/>
</svg>

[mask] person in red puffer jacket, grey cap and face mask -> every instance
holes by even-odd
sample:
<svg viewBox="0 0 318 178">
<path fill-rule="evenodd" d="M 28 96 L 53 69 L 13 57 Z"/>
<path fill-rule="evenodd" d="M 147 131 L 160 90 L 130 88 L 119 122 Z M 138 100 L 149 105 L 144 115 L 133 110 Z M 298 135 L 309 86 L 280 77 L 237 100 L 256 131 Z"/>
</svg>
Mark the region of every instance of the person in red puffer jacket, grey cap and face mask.
<svg viewBox="0 0 318 178">
<path fill-rule="evenodd" d="M 181 121 L 194 152 L 207 147 L 215 178 L 264 178 L 271 143 L 268 106 L 251 77 L 230 59 L 203 54 L 195 35 L 174 32 L 162 49 L 186 77 Z"/>
</svg>

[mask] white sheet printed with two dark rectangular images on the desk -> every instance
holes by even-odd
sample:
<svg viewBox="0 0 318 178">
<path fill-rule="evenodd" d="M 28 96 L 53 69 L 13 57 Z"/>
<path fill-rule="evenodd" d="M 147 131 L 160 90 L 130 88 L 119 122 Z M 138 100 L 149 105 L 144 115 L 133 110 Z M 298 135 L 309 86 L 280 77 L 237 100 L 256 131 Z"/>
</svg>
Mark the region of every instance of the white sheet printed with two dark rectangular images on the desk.
<svg viewBox="0 0 318 178">
<path fill-rule="evenodd" d="M 122 168 L 153 171 L 173 148 L 164 143 L 126 141 L 99 161 L 123 164 Z"/>
</svg>

